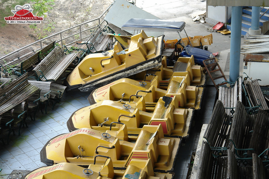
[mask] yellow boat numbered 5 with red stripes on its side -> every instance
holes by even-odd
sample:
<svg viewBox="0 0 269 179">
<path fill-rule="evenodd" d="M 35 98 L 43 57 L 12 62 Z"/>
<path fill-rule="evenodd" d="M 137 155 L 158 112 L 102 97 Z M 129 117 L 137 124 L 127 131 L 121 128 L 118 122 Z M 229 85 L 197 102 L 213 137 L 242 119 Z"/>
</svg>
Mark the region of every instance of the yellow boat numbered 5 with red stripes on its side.
<svg viewBox="0 0 269 179">
<path fill-rule="evenodd" d="M 114 169 L 125 169 L 134 159 L 151 159 L 155 169 L 167 171 L 173 168 L 179 142 L 164 138 L 161 125 L 143 126 L 135 143 L 82 128 L 49 140 L 40 151 L 40 159 L 47 165 L 68 162 L 83 166 L 103 164 L 110 157 Z"/>
</svg>

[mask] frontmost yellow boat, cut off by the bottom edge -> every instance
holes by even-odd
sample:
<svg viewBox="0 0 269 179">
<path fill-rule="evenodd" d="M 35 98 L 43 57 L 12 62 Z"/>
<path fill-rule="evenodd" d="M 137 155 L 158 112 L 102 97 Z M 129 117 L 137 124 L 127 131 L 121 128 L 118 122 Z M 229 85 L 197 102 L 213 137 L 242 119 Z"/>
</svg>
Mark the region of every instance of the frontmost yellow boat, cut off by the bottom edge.
<svg viewBox="0 0 269 179">
<path fill-rule="evenodd" d="M 122 172 L 117 172 L 117 170 L 114 172 L 112 160 L 108 158 L 103 165 L 90 164 L 88 168 L 66 162 L 53 166 L 44 166 L 27 173 L 22 179 L 138 179 L 140 177 L 172 179 L 172 174 L 154 172 L 150 159 L 133 159 L 122 174 Z"/>
</svg>

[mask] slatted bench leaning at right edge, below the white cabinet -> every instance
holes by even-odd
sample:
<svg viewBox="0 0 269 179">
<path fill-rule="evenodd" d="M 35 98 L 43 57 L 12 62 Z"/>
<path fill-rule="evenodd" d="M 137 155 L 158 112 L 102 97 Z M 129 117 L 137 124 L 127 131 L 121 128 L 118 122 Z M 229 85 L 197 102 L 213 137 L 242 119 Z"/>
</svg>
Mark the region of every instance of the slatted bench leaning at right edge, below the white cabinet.
<svg viewBox="0 0 269 179">
<path fill-rule="evenodd" d="M 260 106 L 263 110 L 269 109 L 257 79 L 252 81 L 244 80 L 244 86 L 250 99 L 250 107 Z"/>
</svg>

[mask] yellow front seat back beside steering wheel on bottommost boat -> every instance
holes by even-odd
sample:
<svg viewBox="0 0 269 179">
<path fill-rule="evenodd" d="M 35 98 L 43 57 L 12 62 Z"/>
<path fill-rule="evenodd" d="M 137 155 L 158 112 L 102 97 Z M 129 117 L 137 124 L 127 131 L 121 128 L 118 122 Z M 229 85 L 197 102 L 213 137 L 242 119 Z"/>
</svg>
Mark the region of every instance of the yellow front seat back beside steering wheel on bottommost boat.
<svg viewBox="0 0 269 179">
<path fill-rule="evenodd" d="M 114 169 L 111 158 L 108 158 L 104 165 L 94 165 L 90 164 L 88 169 L 91 169 L 93 172 L 100 172 L 100 176 L 114 178 Z"/>
</svg>

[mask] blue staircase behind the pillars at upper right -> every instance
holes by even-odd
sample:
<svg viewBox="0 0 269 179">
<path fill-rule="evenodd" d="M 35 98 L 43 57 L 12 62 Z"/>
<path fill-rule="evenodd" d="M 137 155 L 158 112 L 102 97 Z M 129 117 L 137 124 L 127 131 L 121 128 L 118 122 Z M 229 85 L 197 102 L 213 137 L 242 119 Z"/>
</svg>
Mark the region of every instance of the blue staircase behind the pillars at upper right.
<svg viewBox="0 0 269 179">
<path fill-rule="evenodd" d="M 261 7 L 262 8 L 262 7 Z M 260 16 L 268 9 L 269 7 L 264 7 Z M 241 34 L 245 35 L 248 32 L 248 29 L 251 27 L 251 14 L 252 7 L 243 7 L 242 10 L 242 31 Z M 227 25 L 227 29 L 231 29 L 231 25 Z M 262 34 L 266 33 L 269 30 L 269 10 L 260 18 L 260 28 L 262 29 Z"/>
</svg>

